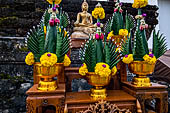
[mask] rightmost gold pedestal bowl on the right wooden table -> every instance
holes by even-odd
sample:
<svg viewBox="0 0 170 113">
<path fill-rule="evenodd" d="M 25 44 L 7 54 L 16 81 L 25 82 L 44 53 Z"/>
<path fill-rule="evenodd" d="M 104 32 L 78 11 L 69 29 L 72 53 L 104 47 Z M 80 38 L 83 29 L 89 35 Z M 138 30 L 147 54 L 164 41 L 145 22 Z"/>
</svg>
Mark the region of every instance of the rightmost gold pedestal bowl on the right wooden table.
<svg viewBox="0 0 170 113">
<path fill-rule="evenodd" d="M 148 74 L 152 74 L 155 68 L 155 64 L 149 64 L 146 61 L 133 61 L 128 65 L 129 71 L 137 75 L 132 80 L 132 83 L 137 87 L 151 86 L 150 79 L 146 77 Z"/>
</svg>

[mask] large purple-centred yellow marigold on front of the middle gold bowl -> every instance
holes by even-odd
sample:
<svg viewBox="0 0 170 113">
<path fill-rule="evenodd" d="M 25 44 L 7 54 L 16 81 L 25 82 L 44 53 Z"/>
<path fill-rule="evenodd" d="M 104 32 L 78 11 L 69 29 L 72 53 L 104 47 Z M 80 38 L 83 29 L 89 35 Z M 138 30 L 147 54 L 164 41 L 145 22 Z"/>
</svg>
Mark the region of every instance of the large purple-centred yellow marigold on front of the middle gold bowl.
<svg viewBox="0 0 170 113">
<path fill-rule="evenodd" d="M 101 77 L 110 76 L 111 70 L 110 66 L 106 63 L 97 63 L 95 67 L 95 73 L 100 75 Z"/>
</svg>

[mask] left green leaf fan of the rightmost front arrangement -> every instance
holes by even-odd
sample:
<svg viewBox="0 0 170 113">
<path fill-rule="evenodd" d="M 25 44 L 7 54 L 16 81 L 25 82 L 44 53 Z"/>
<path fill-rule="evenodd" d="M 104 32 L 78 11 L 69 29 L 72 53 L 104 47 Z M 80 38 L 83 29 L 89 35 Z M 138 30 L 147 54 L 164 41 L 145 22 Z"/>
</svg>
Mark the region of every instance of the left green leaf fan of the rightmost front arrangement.
<svg viewBox="0 0 170 113">
<path fill-rule="evenodd" d="M 130 37 L 128 37 L 126 42 L 122 43 L 121 53 L 123 56 L 132 54 L 132 35 L 130 35 Z"/>
</svg>

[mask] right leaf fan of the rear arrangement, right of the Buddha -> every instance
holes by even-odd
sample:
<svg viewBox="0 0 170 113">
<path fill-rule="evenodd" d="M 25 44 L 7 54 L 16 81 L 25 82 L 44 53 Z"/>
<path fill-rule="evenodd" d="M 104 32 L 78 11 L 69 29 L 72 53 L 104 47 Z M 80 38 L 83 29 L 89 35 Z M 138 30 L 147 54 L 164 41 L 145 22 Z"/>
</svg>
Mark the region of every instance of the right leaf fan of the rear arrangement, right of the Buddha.
<svg viewBox="0 0 170 113">
<path fill-rule="evenodd" d="M 133 18 L 133 16 L 130 14 L 127 14 L 126 12 L 126 29 L 128 30 L 128 33 L 131 32 L 131 30 L 135 27 L 135 25 L 136 25 L 136 21 Z"/>
</svg>

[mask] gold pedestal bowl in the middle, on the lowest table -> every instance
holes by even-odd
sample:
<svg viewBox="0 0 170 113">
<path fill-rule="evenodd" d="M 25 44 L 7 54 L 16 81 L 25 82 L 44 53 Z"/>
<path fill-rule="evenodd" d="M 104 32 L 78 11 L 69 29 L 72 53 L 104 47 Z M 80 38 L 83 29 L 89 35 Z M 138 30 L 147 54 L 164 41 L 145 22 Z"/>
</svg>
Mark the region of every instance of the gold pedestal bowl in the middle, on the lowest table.
<svg viewBox="0 0 170 113">
<path fill-rule="evenodd" d="M 106 88 L 103 86 L 107 86 L 110 82 L 111 75 L 106 77 L 101 77 L 100 75 L 95 74 L 94 72 L 88 72 L 86 74 L 86 79 L 88 83 L 95 88 L 91 89 L 91 96 L 93 99 L 104 99 L 107 96 Z"/>
</svg>

